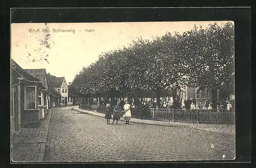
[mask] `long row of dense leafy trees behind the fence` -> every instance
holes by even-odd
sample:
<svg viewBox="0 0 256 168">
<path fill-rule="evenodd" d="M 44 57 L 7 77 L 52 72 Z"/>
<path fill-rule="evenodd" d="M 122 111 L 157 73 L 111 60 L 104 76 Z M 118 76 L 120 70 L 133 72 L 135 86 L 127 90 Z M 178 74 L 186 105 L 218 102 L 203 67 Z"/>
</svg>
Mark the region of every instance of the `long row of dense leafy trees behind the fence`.
<svg viewBox="0 0 256 168">
<path fill-rule="evenodd" d="M 232 93 L 234 84 L 234 27 L 209 24 L 194 26 L 183 34 L 166 33 L 153 40 L 138 38 L 130 46 L 99 55 L 98 61 L 75 76 L 70 91 L 83 97 L 142 96 L 145 91 L 160 95 L 194 85 L 217 89 L 222 98 Z M 177 99 L 175 99 L 177 100 Z M 177 100 L 178 101 L 178 100 Z M 216 100 L 212 100 L 216 107 Z"/>
</svg>

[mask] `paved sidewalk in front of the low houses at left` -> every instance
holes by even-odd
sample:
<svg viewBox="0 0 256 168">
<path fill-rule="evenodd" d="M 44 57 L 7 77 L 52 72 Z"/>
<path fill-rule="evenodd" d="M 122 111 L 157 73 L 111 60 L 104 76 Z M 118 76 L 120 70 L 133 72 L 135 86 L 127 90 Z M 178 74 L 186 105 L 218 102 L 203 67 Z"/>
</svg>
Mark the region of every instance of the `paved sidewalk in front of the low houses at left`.
<svg viewBox="0 0 256 168">
<path fill-rule="evenodd" d="M 51 113 L 40 120 L 39 128 L 22 128 L 13 138 L 13 162 L 42 162 L 46 149 Z"/>
</svg>

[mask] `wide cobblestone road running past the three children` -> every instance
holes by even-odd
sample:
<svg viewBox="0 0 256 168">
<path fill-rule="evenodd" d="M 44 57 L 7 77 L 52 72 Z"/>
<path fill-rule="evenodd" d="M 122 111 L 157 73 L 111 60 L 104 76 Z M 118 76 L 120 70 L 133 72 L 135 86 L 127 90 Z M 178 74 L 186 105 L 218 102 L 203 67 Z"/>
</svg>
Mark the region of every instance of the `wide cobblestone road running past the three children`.
<svg viewBox="0 0 256 168">
<path fill-rule="evenodd" d="M 234 134 L 185 126 L 106 125 L 71 107 L 52 110 L 44 161 L 222 160 L 235 155 Z M 211 146 L 211 144 L 213 146 Z"/>
</svg>

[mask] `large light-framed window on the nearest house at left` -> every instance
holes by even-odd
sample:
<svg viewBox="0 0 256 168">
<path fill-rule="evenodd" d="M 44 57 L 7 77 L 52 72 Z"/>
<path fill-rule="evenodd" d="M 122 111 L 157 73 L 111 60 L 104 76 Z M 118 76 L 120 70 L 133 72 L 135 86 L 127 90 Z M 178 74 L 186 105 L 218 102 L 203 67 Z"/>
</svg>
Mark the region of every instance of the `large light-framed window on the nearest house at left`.
<svg viewBox="0 0 256 168">
<path fill-rule="evenodd" d="M 25 87 L 25 109 L 36 109 L 36 86 Z"/>
</svg>

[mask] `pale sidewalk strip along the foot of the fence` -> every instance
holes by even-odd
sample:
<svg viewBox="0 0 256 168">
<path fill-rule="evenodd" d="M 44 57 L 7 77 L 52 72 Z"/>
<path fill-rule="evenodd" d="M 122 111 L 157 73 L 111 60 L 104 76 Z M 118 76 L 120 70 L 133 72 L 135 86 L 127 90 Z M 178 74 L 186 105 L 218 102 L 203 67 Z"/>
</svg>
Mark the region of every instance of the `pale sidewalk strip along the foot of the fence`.
<svg viewBox="0 0 256 168">
<path fill-rule="evenodd" d="M 98 117 L 105 117 L 105 114 L 97 113 L 89 110 L 84 110 L 78 107 L 73 108 L 76 111 L 79 111 L 80 113 L 94 115 Z M 120 121 L 125 121 L 121 118 Z M 231 133 L 235 134 L 235 125 L 234 124 L 197 124 L 197 123 L 182 123 L 182 122 L 168 122 L 168 121 L 154 121 L 154 120 L 141 120 L 132 118 L 130 120 L 131 123 L 139 123 L 139 124 L 150 124 L 150 125 L 160 125 L 160 126 L 169 126 L 169 127 L 175 127 L 175 126 L 183 126 L 183 127 L 190 127 L 190 128 L 196 128 L 206 131 L 214 131 L 219 133 Z"/>
</svg>

